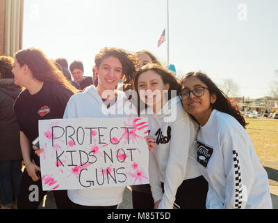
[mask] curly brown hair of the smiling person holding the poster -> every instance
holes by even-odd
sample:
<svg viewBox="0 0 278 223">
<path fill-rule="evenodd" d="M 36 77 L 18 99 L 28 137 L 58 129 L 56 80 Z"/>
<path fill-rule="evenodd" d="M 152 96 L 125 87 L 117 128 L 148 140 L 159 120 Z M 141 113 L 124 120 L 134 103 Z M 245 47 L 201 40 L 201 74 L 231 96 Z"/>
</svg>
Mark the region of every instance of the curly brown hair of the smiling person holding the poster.
<svg viewBox="0 0 278 223">
<path fill-rule="evenodd" d="M 119 59 L 119 61 L 122 63 L 124 91 L 132 89 L 134 76 L 138 72 L 138 60 L 136 56 L 126 52 L 124 49 L 116 47 L 104 47 L 95 56 L 95 65 L 97 66 L 97 69 L 99 69 L 101 61 L 106 59 L 108 56 L 113 56 Z"/>
</svg>

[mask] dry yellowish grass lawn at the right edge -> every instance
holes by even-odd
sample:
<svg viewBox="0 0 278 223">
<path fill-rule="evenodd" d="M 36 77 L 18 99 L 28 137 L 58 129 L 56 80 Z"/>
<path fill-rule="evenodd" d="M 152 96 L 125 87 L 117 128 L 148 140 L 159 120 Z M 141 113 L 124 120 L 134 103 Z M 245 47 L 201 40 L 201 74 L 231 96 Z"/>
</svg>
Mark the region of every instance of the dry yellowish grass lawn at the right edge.
<svg viewBox="0 0 278 223">
<path fill-rule="evenodd" d="M 250 135 L 260 160 L 278 162 L 278 119 L 245 118 Z"/>
</svg>

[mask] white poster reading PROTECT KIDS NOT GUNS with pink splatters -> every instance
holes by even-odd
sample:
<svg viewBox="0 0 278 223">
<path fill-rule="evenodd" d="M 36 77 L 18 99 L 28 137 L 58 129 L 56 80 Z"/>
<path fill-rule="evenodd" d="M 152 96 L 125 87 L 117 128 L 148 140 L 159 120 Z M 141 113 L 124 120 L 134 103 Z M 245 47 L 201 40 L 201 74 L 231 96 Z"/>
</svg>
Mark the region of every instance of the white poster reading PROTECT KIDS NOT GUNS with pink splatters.
<svg viewBox="0 0 278 223">
<path fill-rule="evenodd" d="M 147 118 L 39 121 L 43 190 L 149 183 Z"/>
</svg>

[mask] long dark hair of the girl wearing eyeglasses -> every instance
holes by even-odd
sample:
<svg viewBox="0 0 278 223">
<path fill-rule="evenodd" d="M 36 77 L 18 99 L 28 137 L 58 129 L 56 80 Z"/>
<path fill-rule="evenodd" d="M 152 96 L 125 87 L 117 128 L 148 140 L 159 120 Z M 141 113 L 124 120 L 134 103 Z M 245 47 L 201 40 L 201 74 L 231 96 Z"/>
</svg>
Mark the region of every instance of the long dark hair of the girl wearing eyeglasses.
<svg viewBox="0 0 278 223">
<path fill-rule="evenodd" d="M 182 87 L 182 84 L 190 77 L 197 77 L 201 82 L 208 86 L 208 91 L 210 93 L 214 93 L 216 95 L 216 101 L 212 104 L 213 109 L 217 109 L 220 112 L 233 116 L 240 123 L 240 125 L 243 125 L 243 128 L 245 128 L 247 123 L 245 123 L 243 116 L 241 116 L 240 112 L 234 107 L 234 105 L 231 104 L 231 100 L 227 97 L 227 95 L 225 95 L 207 75 L 202 72 L 188 72 L 181 78 L 179 82 L 180 87 Z"/>
</svg>

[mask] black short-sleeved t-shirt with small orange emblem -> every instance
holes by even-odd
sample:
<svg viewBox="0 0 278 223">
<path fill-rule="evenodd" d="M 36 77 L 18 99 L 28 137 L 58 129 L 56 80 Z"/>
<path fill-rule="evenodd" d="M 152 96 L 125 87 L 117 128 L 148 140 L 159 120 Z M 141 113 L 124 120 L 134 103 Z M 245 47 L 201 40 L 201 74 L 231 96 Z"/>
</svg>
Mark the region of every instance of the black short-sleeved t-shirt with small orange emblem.
<svg viewBox="0 0 278 223">
<path fill-rule="evenodd" d="M 44 82 L 42 89 L 31 95 L 27 89 L 19 94 L 14 110 L 19 129 L 24 132 L 31 143 L 38 137 L 38 121 L 52 118 L 63 118 L 67 101 L 72 91 L 60 84 Z M 31 158 L 40 164 L 38 155 L 31 148 Z"/>
</svg>

